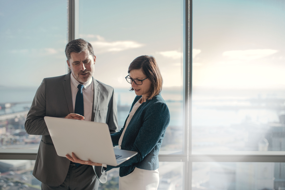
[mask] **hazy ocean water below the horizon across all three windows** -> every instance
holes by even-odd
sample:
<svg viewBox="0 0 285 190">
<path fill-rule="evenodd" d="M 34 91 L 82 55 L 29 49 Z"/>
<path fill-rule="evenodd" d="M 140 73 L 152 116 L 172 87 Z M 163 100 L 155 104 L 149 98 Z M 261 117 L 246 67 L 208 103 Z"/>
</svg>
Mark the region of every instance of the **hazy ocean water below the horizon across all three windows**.
<svg viewBox="0 0 285 190">
<path fill-rule="evenodd" d="M 37 87 L 0 87 L 0 115 L 29 109 Z M 182 126 L 182 97 L 177 88 L 161 92 L 170 110 L 170 126 Z M 129 114 L 135 92 L 129 89 L 116 89 L 119 125 L 123 126 Z M 11 103 L 9 109 L 3 109 Z M 229 126 L 245 120 L 256 123 L 279 122 L 285 114 L 284 90 L 269 91 L 221 91 L 193 90 L 192 126 Z"/>
</svg>

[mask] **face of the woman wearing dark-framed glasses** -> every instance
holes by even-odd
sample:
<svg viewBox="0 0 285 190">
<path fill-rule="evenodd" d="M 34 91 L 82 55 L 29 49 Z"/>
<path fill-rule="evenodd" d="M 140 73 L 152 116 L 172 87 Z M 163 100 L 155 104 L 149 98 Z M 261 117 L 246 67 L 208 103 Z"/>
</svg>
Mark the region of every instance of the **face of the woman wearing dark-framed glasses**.
<svg viewBox="0 0 285 190">
<path fill-rule="evenodd" d="M 144 75 L 141 69 L 131 70 L 129 77 L 131 79 L 140 79 L 140 80 L 143 80 L 146 78 L 146 76 Z M 135 82 L 132 83 L 132 88 L 135 90 L 136 95 L 138 96 L 142 95 L 145 99 L 148 96 L 150 87 L 151 87 L 151 82 L 148 79 L 143 80 L 142 85 L 137 85 Z"/>
</svg>

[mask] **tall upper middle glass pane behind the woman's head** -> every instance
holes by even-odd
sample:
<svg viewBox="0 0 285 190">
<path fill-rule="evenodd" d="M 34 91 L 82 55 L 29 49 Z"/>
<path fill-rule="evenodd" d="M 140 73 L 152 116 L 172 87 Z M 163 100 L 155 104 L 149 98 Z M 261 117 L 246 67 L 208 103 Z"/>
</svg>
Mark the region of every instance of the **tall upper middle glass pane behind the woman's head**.
<svg viewBox="0 0 285 190">
<path fill-rule="evenodd" d="M 95 79 L 115 88 L 119 128 L 135 98 L 125 80 L 129 64 L 141 55 L 156 58 L 164 79 L 161 95 L 171 118 L 160 154 L 181 154 L 182 2 L 82 0 L 79 26 L 79 37 L 94 48 Z"/>
</svg>

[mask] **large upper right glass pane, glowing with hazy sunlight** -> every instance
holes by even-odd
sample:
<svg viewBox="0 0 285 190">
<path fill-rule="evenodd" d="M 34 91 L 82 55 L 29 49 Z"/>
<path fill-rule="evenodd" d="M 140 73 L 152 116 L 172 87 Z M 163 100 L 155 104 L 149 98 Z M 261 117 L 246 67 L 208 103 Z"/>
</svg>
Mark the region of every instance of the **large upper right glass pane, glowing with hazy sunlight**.
<svg viewBox="0 0 285 190">
<path fill-rule="evenodd" d="M 193 1 L 193 154 L 285 151 L 284 7 Z"/>
</svg>

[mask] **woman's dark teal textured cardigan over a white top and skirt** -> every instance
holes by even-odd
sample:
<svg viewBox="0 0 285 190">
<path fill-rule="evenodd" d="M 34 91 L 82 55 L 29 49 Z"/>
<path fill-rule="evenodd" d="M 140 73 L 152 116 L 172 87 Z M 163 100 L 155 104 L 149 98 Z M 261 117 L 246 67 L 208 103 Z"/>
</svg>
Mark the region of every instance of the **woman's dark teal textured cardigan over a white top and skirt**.
<svg viewBox="0 0 285 190">
<path fill-rule="evenodd" d="M 131 110 L 140 98 L 141 96 L 135 97 Z M 126 121 L 119 132 L 111 134 L 113 146 L 118 145 Z M 121 177 L 132 173 L 135 167 L 146 170 L 156 170 L 159 163 L 158 152 L 169 122 L 169 109 L 160 94 L 151 100 L 146 100 L 133 115 L 121 144 L 121 149 L 135 151 L 138 152 L 138 154 L 119 166 L 108 165 L 107 168 L 104 167 L 104 169 L 109 171 L 112 168 L 120 167 L 119 175 Z"/>
</svg>

